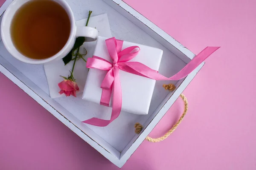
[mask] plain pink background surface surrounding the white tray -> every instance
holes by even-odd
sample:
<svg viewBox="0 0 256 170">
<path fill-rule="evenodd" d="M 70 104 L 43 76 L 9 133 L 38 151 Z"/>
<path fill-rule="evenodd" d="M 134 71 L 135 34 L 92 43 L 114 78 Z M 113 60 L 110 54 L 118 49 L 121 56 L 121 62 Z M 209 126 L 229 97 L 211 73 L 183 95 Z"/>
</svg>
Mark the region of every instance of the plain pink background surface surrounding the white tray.
<svg viewBox="0 0 256 170">
<path fill-rule="evenodd" d="M 221 48 L 184 94 L 189 112 L 165 141 L 144 141 L 122 170 L 256 169 L 255 0 L 125 0 L 194 53 Z M 118 170 L 0 76 L 1 170 Z M 164 134 L 181 99 L 150 136 Z"/>
</svg>

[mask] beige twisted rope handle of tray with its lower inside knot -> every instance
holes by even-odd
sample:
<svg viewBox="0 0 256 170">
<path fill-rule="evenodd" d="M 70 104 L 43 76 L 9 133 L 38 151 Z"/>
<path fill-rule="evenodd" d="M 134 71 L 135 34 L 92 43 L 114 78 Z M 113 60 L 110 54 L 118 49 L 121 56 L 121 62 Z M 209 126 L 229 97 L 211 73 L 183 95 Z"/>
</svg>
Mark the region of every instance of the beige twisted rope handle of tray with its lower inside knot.
<svg viewBox="0 0 256 170">
<path fill-rule="evenodd" d="M 178 120 L 178 122 L 175 125 L 173 125 L 172 129 L 169 130 L 164 136 L 161 136 L 159 138 L 151 138 L 151 137 L 147 136 L 146 140 L 148 142 L 153 142 L 154 143 L 154 142 L 163 141 L 168 136 L 170 136 L 170 134 L 172 134 L 172 132 L 174 132 L 174 130 L 176 130 L 178 125 L 180 125 L 180 122 L 183 120 L 184 116 L 186 115 L 186 113 L 188 111 L 188 101 L 187 101 L 186 97 L 184 96 L 184 94 L 180 94 L 180 97 L 183 99 L 183 102 L 184 102 L 184 111 L 183 111 L 183 114 L 180 116 L 180 119 Z M 140 125 L 140 123 L 136 123 L 134 125 L 134 127 L 135 127 L 135 133 L 140 133 L 140 131 L 143 129 L 143 126 Z"/>
</svg>

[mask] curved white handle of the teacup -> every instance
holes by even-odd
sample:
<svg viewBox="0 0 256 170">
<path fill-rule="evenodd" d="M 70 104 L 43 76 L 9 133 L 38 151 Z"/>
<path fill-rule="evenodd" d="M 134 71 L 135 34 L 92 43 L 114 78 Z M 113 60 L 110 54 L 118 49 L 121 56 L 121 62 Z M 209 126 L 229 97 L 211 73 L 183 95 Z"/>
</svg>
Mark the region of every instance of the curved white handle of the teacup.
<svg viewBox="0 0 256 170">
<path fill-rule="evenodd" d="M 87 26 L 76 27 L 76 37 L 85 37 L 85 42 L 96 41 L 98 39 L 98 30 Z"/>
</svg>

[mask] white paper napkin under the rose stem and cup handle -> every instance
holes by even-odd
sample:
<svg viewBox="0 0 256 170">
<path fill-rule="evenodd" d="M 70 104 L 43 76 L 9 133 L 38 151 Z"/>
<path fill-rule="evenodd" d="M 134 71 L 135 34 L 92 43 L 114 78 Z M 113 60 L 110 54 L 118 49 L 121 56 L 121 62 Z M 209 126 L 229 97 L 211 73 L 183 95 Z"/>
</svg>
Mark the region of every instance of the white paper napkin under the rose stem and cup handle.
<svg viewBox="0 0 256 170">
<path fill-rule="evenodd" d="M 85 26 L 86 21 L 87 21 L 87 18 L 76 21 L 76 25 Z M 109 37 L 109 38 L 112 37 L 107 14 L 90 17 L 88 26 L 93 28 L 96 27 L 96 29 L 99 31 L 100 36 Z M 84 48 L 87 50 L 87 55 L 84 56 L 84 59 L 93 57 L 95 46 L 96 46 L 96 41 L 84 42 L 84 44 L 80 48 L 81 54 L 85 54 Z M 60 77 L 60 75 L 64 77 L 70 76 L 70 71 L 72 70 L 73 62 L 74 61 L 70 61 L 67 65 L 64 65 L 64 62 L 61 59 L 55 62 L 44 64 L 44 71 L 47 77 L 47 81 L 49 85 L 49 94 L 51 98 L 65 96 L 64 94 L 58 93 L 60 91 L 60 88 L 58 87 L 58 83 L 64 80 L 62 77 Z M 76 79 L 76 82 L 80 89 L 78 93 L 81 93 L 84 90 L 84 84 L 87 78 L 87 74 L 88 74 L 88 68 L 86 68 L 86 62 L 84 62 L 83 59 L 79 59 L 76 62 L 75 69 L 73 72 L 73 76 Z"/>
</svg>

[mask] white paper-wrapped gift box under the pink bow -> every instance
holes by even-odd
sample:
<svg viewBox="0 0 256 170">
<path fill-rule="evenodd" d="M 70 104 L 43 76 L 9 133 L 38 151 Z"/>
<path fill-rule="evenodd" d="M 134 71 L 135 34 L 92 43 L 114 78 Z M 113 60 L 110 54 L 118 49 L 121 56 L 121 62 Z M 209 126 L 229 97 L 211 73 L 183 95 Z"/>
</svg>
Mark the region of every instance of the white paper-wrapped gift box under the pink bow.
<svg viewBox="0 0 256 170">
<path fill-rule="evenodd" d="M 113 61 L 108 54 L 105 42 L 106 39 L 108 38 L 98 38 L 93 55 L 106 59 L 112 63 Z M 131 59 L 131 62 L 141 62 L 149 68 L 157 71 L 159 70 L 163 50 L 127 41 L 123 42 L 122 50 L 131 46 L 140 47 L 139 54 Z M 100 88 L 100 86 L 106 74 L 107 71 L 102 71 L 96 68 L 91 68 L 89 70 L 84 86 L 83 99 L 98 104 L 100 103 L 102 95 L 102 88 Z M 156 80 L 141 77 L 122 70 L 119 71 L 119 77 L 122 87 L 122 111 L 134 114 L 148 114 Z M 110 102 L 110 107 L 111 106 L 112 100 Z"/>
</svg>

